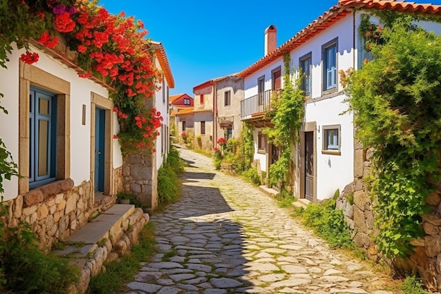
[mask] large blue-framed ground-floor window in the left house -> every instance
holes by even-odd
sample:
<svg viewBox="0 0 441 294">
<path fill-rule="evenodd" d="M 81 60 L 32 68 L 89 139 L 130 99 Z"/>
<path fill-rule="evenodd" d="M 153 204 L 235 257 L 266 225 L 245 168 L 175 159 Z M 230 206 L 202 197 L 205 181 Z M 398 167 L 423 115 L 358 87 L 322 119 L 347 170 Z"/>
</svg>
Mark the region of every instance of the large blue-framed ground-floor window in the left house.
<svg viewBox="0 0 441 294">
<path fill-rule="evenodd" d="M 56 95 L 30 89 L 29 187 L 36 188 L 56 178 Z"/>
</svg>

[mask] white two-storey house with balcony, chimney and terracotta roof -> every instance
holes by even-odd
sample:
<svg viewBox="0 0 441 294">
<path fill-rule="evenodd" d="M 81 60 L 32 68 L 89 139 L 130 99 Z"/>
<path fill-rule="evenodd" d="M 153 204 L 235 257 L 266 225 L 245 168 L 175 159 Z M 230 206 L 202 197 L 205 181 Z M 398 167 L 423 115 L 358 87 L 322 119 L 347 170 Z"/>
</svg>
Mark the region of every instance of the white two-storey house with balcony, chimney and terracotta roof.
<svg viewBox="0 0 441 294">
<path fill-rule="evenodd" d="M 348 104 L 339 71 L 361 68 L 366 58 L 364 38 L 358 27 L 362 13 L 399 11 L 402 13 L 432 13 L 430 5 L 401 1 L 339 1 L 329 11 L 313 20 L 291 39 L 277 47 L 277 29 L 265 30 L 265 54 L 242 72 L 244 99 L 241 102 L 242 121 L 254 125 L 254 160 L 268 174 L 269 166 L 278 159 L 278 151 L 268 143 L 263 128 L 271 125 L 264 114 L 271 107 L 273 92 L 283 88 L 283 56 L 290 54 L 290 72 L 294 81 L 299 68 L 305 74 L 303 90 L 305 115 L 294 146 L 294 195 L 310 201 L 333 197 L 337 189 L 354 180 L 363 164 L 362 149 L 354 147 L 352 112 Z M 379 22 L 379 18 L 371 16 Z M 440 33 L 440 25 L 419 23 Z M 362 170 L 362 169 L 361 169 Z"/>
</svg>

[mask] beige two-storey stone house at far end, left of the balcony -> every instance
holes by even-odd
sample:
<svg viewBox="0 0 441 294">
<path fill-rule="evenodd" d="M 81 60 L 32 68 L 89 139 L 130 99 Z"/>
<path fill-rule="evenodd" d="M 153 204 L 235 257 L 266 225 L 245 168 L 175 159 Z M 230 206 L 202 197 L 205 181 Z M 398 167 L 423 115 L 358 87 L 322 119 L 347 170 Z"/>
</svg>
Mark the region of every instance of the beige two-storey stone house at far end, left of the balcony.
<svg viewBox="0 0 441 294">
<path fill-rule="evenodd" d="M 219 138 L 240 135 L 242 78 L 236 75 L 214 78 L 193 87 L 193 94 L 195 145 L 200 137 L 199 147 L 213 149 Z"/>
</svg>

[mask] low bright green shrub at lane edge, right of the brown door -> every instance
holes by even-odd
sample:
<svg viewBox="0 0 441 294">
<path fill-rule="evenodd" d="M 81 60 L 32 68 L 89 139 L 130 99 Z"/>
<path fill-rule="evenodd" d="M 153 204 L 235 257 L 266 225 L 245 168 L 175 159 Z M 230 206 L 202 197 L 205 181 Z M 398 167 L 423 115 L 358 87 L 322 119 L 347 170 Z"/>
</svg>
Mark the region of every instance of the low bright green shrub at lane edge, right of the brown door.
<svg viewBox="0 0 441 294">
<path fill-rule="evenodd" d="M 312 228 L 329 245 L 347 249 L 355 247 L 349 228 L 344 221 L 343 211 L 335 209 L 335 200 L 309 204 L 302 213 L 302 217 L 303 224 Z"/>
</svg>

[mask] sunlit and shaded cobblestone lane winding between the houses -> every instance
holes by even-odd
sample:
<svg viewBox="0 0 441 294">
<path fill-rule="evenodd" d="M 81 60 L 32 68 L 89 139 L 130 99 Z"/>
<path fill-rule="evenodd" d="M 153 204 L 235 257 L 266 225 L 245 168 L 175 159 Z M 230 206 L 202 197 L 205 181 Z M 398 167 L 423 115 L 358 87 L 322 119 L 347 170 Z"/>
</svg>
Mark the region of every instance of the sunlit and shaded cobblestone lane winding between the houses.
<svg viewBox="0 0 441 294">
<path fill-rule="evenodd" d="M 328 247 L 259 188 L 201 154 L 180 154 L 190 163 L 182 197 L 151 216 L 158 252 L 123 293 L 399 293 L 387 274 Z"/>
</svg>

